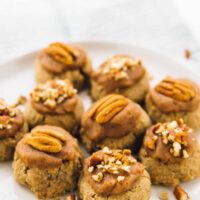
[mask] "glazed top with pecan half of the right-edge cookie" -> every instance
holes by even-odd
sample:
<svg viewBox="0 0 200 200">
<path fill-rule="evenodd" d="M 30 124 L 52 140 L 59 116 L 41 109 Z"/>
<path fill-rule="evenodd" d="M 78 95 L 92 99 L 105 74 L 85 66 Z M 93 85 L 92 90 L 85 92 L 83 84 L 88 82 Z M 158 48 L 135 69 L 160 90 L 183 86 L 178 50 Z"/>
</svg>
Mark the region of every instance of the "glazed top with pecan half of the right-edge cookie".
<svg viewBox="0 0 200 200">
<path fill-rule="evenodd" d="M 166 77 L 149 93 L 162 112 L 193 111 L 200 104 L 200 89 L 186 79 Z"/>
</svg>

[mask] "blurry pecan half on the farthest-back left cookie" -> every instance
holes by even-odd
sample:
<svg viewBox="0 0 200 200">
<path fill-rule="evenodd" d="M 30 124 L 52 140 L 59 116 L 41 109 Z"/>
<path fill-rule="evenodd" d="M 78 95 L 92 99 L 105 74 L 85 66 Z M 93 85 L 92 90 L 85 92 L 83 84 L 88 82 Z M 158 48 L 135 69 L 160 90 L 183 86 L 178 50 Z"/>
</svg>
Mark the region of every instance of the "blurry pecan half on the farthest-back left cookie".
<svg viewBox="0 0 200 200">
<path fill-rule="evenodd" d="M 74 49 L 59 42 L 50 44 L 46 51 L 56 61 L 65 65 L 73 64 L 77 57 L 77 52 Z"/>
</svg>

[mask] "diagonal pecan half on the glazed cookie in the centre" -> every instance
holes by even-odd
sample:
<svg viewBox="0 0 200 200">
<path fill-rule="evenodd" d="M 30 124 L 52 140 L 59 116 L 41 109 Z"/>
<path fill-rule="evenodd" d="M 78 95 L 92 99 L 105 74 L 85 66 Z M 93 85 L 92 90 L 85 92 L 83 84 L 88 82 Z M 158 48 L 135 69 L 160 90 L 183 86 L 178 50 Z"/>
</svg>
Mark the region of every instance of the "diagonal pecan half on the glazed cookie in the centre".
<svg viewBox="0 0 200 200">
<path fill-rule="evenodd" d="M 121 95 L 108 95 L 99 100 L 89 111 L 89 117 L 93 117 L 98 123 L 106 123 L 128 104 L 126 98 Z"/>
</svg>

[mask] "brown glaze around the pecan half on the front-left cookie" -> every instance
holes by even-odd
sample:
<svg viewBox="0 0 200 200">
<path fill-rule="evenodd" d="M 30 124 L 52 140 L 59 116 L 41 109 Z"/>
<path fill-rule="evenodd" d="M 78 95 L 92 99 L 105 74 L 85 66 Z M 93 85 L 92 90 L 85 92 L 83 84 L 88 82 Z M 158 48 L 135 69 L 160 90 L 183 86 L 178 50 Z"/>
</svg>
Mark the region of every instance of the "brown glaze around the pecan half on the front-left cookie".
<svg viewBox="0 0 200 200">
<path fill-rule="evenodd" d="M 39 126 L 37 126 L 37 128 L 38 127 Z M 17 144 L 16 154 L 28 167 L 37 167 L 40 169 L 54 168 L 61 166 L 65 161 L 82 158 L 82 152 L 79 149 L 77 140 L 67 131 L 55 126 L 45 125 L 45 127 L 64 133 L 67 138 L 66 143 L 64 144 L 62 151 L 59 153 L 45 153 L 26 144 L 26 138 L 28 137 L 28 134 L 26 134 Z"/>
</svg>

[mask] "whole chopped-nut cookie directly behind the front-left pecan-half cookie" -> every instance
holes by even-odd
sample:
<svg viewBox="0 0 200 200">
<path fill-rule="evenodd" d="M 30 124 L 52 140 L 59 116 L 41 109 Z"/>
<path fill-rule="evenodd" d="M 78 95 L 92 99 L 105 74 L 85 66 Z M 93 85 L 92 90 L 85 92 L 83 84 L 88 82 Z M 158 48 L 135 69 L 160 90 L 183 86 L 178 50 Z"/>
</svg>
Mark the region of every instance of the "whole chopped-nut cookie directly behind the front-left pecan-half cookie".
<svg viewBox="0 0 200 200">
<path fill-rule="evenodd" d="M 37 85 L 30 94 L 25 116 L 30 125 L 60 126 L 76 134 L 83 104 L 69 80 L 51 80 Z"/>
</svg>

